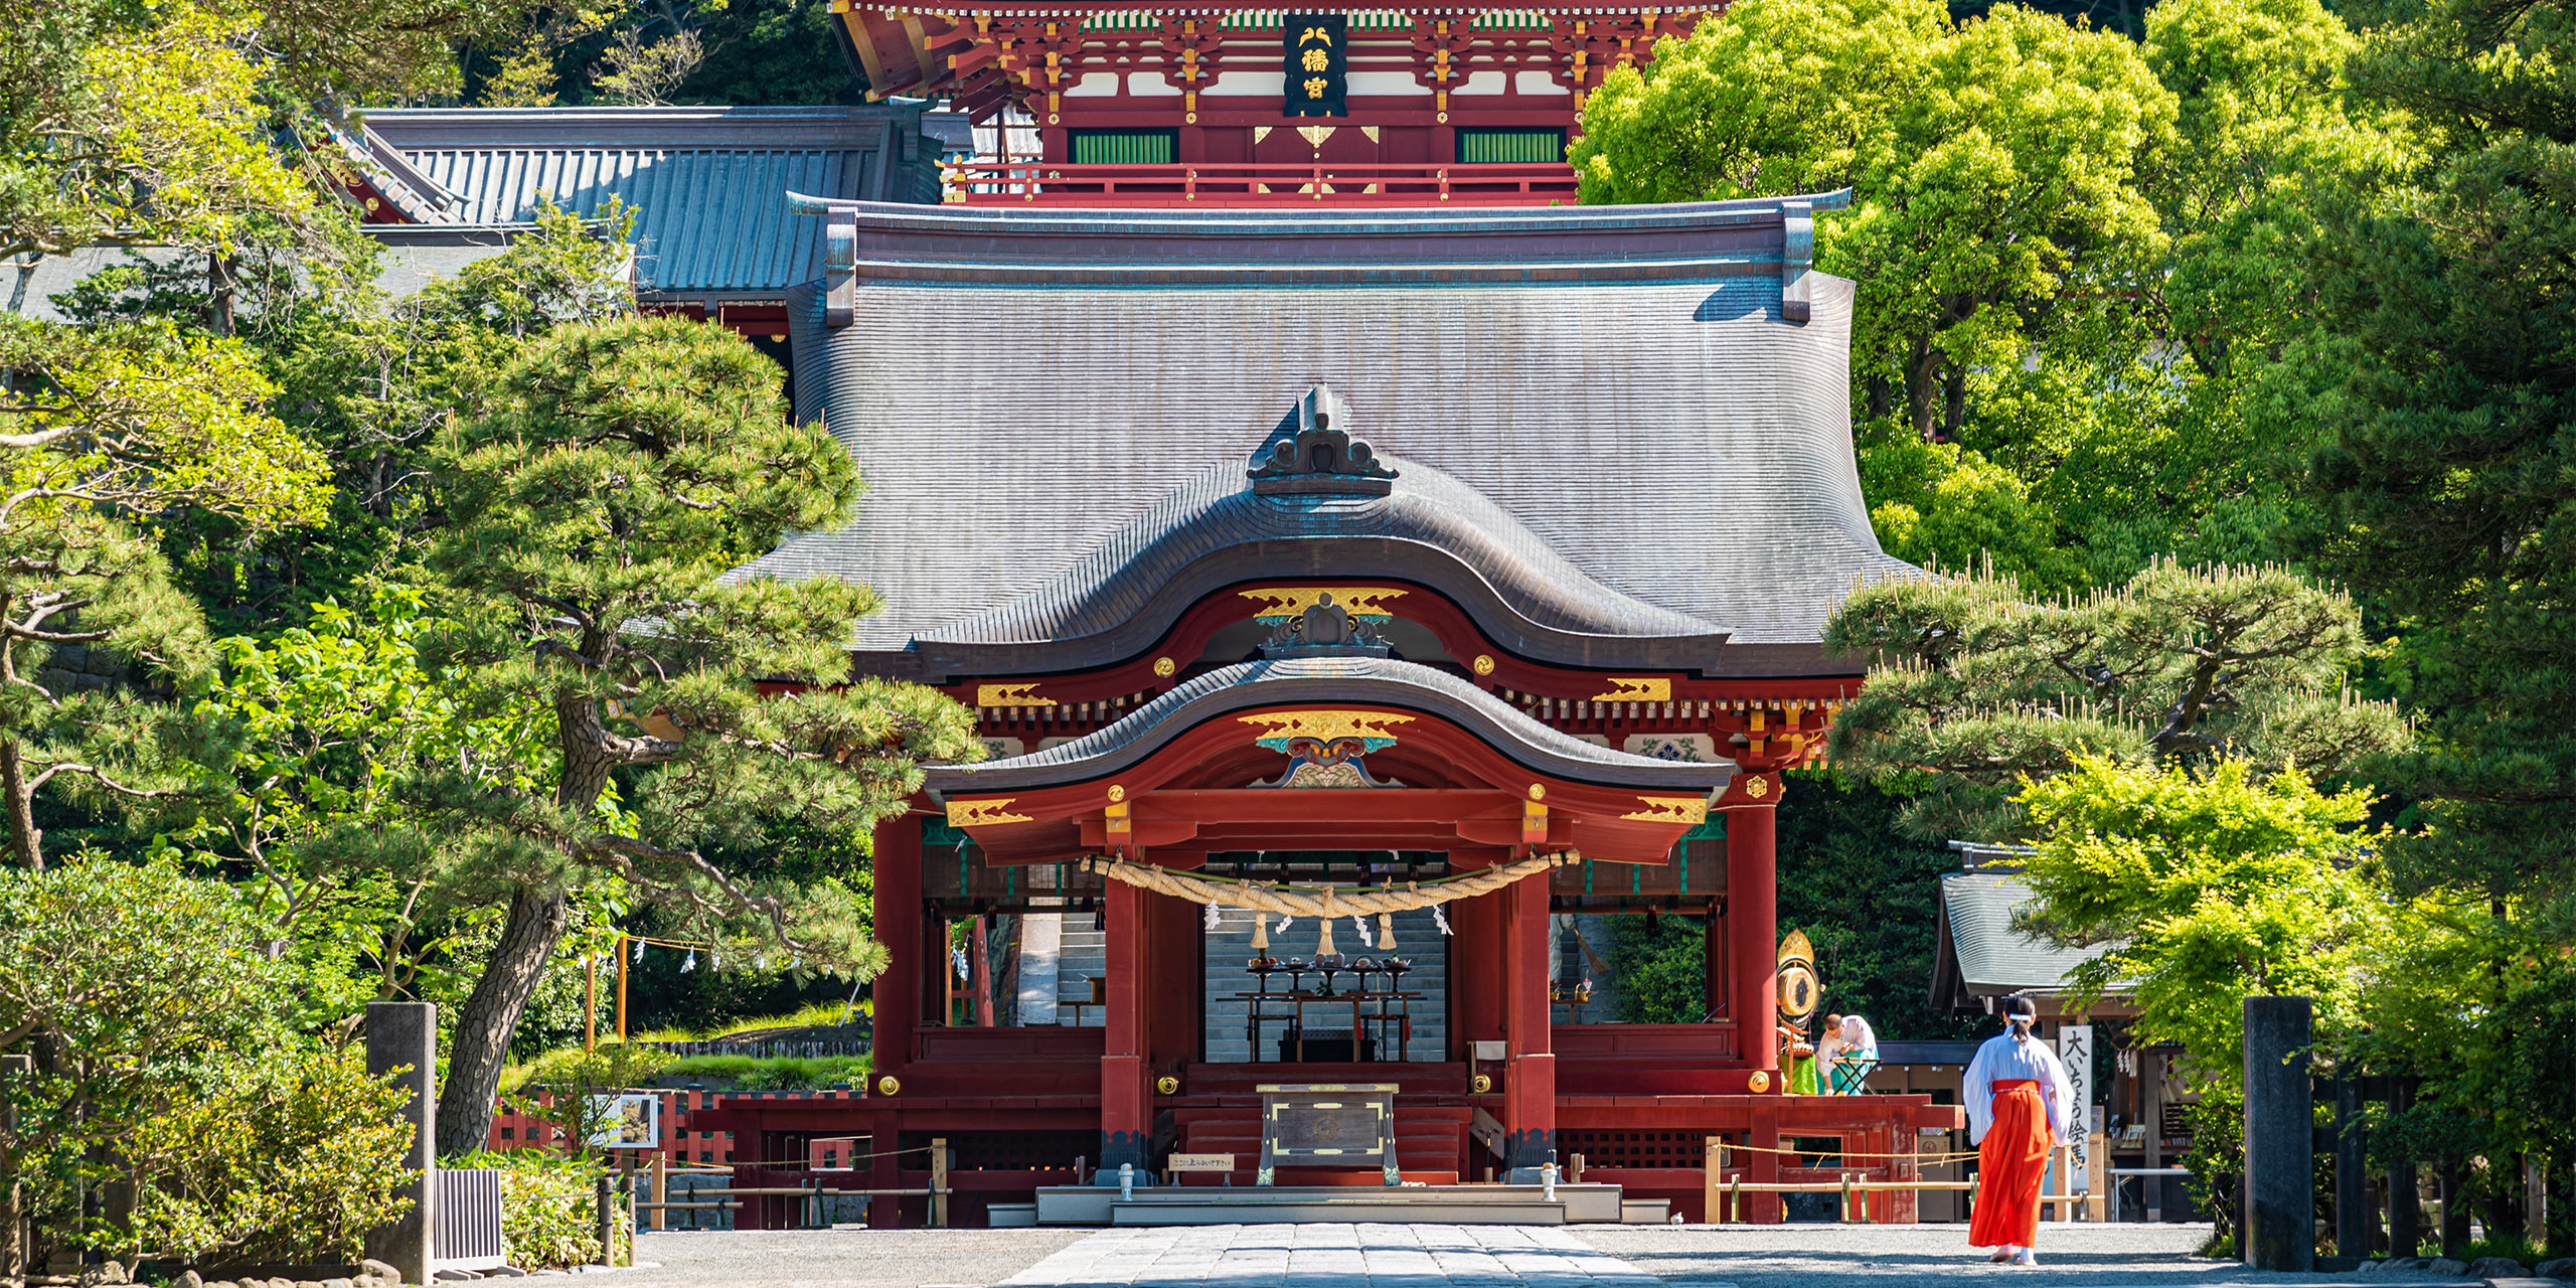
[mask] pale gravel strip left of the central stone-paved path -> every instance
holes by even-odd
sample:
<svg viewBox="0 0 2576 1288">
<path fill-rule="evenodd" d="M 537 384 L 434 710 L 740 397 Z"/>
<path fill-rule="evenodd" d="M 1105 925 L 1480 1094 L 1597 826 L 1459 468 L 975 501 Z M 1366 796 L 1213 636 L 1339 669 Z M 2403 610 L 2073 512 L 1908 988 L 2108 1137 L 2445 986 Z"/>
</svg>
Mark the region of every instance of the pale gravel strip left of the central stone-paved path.
<svg viewBox="0 0 2576 1288">
<path fill-rule="evenodd" d="M 639 1234 L 636 1260 L 590 1288 L 927 1288 L 1002 1283 L 1087 1229 L 755 1229 Z"/>
</svg>

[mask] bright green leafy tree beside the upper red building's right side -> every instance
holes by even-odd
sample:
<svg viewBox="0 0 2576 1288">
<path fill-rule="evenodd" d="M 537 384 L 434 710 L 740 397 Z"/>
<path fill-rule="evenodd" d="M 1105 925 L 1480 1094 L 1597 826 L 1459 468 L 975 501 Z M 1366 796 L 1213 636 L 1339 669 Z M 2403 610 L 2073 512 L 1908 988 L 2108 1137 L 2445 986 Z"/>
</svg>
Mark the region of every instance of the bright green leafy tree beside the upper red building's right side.
<svg viewBox="0 0 2576 1288">
<path fill-rule="evenodd" d="M 1865 286 L 1855 363 L 1924 440 L 2154 263 L 2138 170 L 2174 98 L 2138 46 L 2017 5 L 1752 0 L 1584 103 L 1584 201 L 1852 188 L 1821 268 Z"/>
</svg>

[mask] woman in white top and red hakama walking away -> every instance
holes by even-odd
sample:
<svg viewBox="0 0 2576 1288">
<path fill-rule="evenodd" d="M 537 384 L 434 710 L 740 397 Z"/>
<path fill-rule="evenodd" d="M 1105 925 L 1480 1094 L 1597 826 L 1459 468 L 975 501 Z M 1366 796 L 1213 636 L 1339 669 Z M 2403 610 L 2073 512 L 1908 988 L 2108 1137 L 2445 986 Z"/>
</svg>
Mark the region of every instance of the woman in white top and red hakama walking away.
<svg viewBox="0 0 2576 1288">
<path fill-rule="evenodd" d="M 2058 1054 L 2032 1041 L 2038 1007 L 2014 997 L 2004 1033 L 1989 1038 L 1960 1079 L 1968 1136 L 1978 1144 L 1976 1211 L 1968 1244 L 1991 1247 L 1996 1262 L 2040 1265 L 2040 1182 L 2048 1151 L 2066 1139 L 2071 1084 Z"/>
</svg>

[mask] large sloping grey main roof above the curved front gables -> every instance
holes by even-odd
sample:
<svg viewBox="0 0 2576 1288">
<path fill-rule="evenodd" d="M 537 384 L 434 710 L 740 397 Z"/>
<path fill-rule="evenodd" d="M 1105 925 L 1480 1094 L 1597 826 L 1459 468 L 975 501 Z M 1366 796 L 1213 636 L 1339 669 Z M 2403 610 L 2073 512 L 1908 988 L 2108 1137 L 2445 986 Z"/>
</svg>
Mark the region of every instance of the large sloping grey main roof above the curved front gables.
<svg viewBox="0 0 2576 1288">
<path fill-rule="evenodd" d="M 1811 278 L 1814 319 L 1785 322 L 1777 211 L 858 219 L 858 325 L 827 327 L 822 289 L 788 299 L 799 412 L 871 492 L 755 569 L 873 585 L 860 649 L 1066 577 L 1239 469 L 1314 384 L 1381 456 L 1489 497 L 1592 582 L 1731 631 L 1728 657 L 1777 647 L 1775 670 L 1816 672 L 1832 608 L 1906 567 L 1852 459 L 1852 286 Z"/>
</svg>

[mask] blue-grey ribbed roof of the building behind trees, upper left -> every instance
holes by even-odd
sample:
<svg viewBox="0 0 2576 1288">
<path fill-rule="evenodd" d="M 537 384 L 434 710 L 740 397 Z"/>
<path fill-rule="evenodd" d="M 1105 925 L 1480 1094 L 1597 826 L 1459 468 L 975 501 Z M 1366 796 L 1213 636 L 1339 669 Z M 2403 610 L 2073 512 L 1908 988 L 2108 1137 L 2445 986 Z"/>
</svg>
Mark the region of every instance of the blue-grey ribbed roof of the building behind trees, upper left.
<svg viewBox="0 0 2576 1288">
<path fill-rule="evenodd" d="M 366 116 L 389 198 L 428 224 L 507 227 L 538 198 L 636 209 L 636 286 L 781 296 L 822 273 L 786 193 L 935 201 L 920 108 L 402 108 Z M 417 193 L 420 183 L 433 191 Z"/>
</svg>

